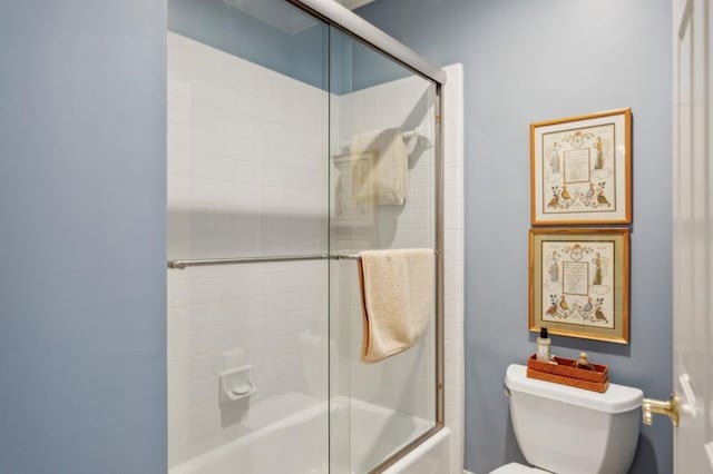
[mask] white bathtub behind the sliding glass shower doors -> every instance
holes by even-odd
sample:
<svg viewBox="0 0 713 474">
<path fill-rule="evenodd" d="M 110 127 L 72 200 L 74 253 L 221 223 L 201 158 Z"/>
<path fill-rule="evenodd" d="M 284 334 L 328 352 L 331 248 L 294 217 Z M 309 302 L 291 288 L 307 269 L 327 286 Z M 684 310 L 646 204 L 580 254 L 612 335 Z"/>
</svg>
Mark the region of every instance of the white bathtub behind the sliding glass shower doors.
<svg viewBox="0 0 713 474">
<path fill-rule="evenodd" d="M 328 474 L 326 409 L 325 402 L 314 403 L 174 466 L 169 474 Z M 426 419 L 346 397 L 333 399 L 329 418 L 331 474 L 363 474 L 391 454 L 389 446 L 403 445 L 431 426 Z M 448 428 L 439 431 L 385 473 L 449 473 L 449 441 Z"/>
</svg>

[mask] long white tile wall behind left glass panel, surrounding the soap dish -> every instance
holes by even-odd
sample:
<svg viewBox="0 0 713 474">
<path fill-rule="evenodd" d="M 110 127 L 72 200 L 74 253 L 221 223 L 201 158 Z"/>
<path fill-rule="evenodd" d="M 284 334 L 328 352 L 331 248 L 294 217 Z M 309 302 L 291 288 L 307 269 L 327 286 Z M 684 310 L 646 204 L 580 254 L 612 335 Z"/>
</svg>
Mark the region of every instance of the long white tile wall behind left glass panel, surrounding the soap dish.
<svg viewBox="0 0 713 474">
<path fill-rule="evenodd" d="M 169 258 L 326 251 L 328 96 L 168 34 Z M 168 270 L 169 465 L 257 428 L 285 393 L 326 397 L 328 264 Z M 248 406 L 218 373 L 252 364 Z M 251 416 L 253 414 L 253 416 Z"/>
</svg>

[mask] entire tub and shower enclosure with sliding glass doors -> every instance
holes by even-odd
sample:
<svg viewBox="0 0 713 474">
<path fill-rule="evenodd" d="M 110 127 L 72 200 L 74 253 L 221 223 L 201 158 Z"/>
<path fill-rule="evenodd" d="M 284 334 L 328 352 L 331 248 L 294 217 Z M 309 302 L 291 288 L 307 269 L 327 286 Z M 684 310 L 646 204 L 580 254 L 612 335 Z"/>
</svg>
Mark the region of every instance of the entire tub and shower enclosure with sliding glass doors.
<svg viewBox="0 0 713 474">
<path fill-rule="evenodd" d="M 168 19 L 169 473 L 450 472 L 443 71 L 332 1 Z M 362 361 L 381 249 L 429 249 L 433 298 Z"/>
</svg>

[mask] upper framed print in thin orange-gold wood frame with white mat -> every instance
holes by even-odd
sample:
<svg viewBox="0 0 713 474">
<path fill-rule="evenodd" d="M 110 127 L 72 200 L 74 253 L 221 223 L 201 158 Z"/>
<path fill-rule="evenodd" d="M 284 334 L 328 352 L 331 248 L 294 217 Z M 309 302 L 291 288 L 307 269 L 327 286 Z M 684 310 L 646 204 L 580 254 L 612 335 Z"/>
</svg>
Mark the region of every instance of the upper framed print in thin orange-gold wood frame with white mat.
<svg viewBox="0 0 713 474">
<path fill-rule="evenodd" d="M 530 124 L 533 225 L 631 224 L 632 111 Z"/>
</svg>

